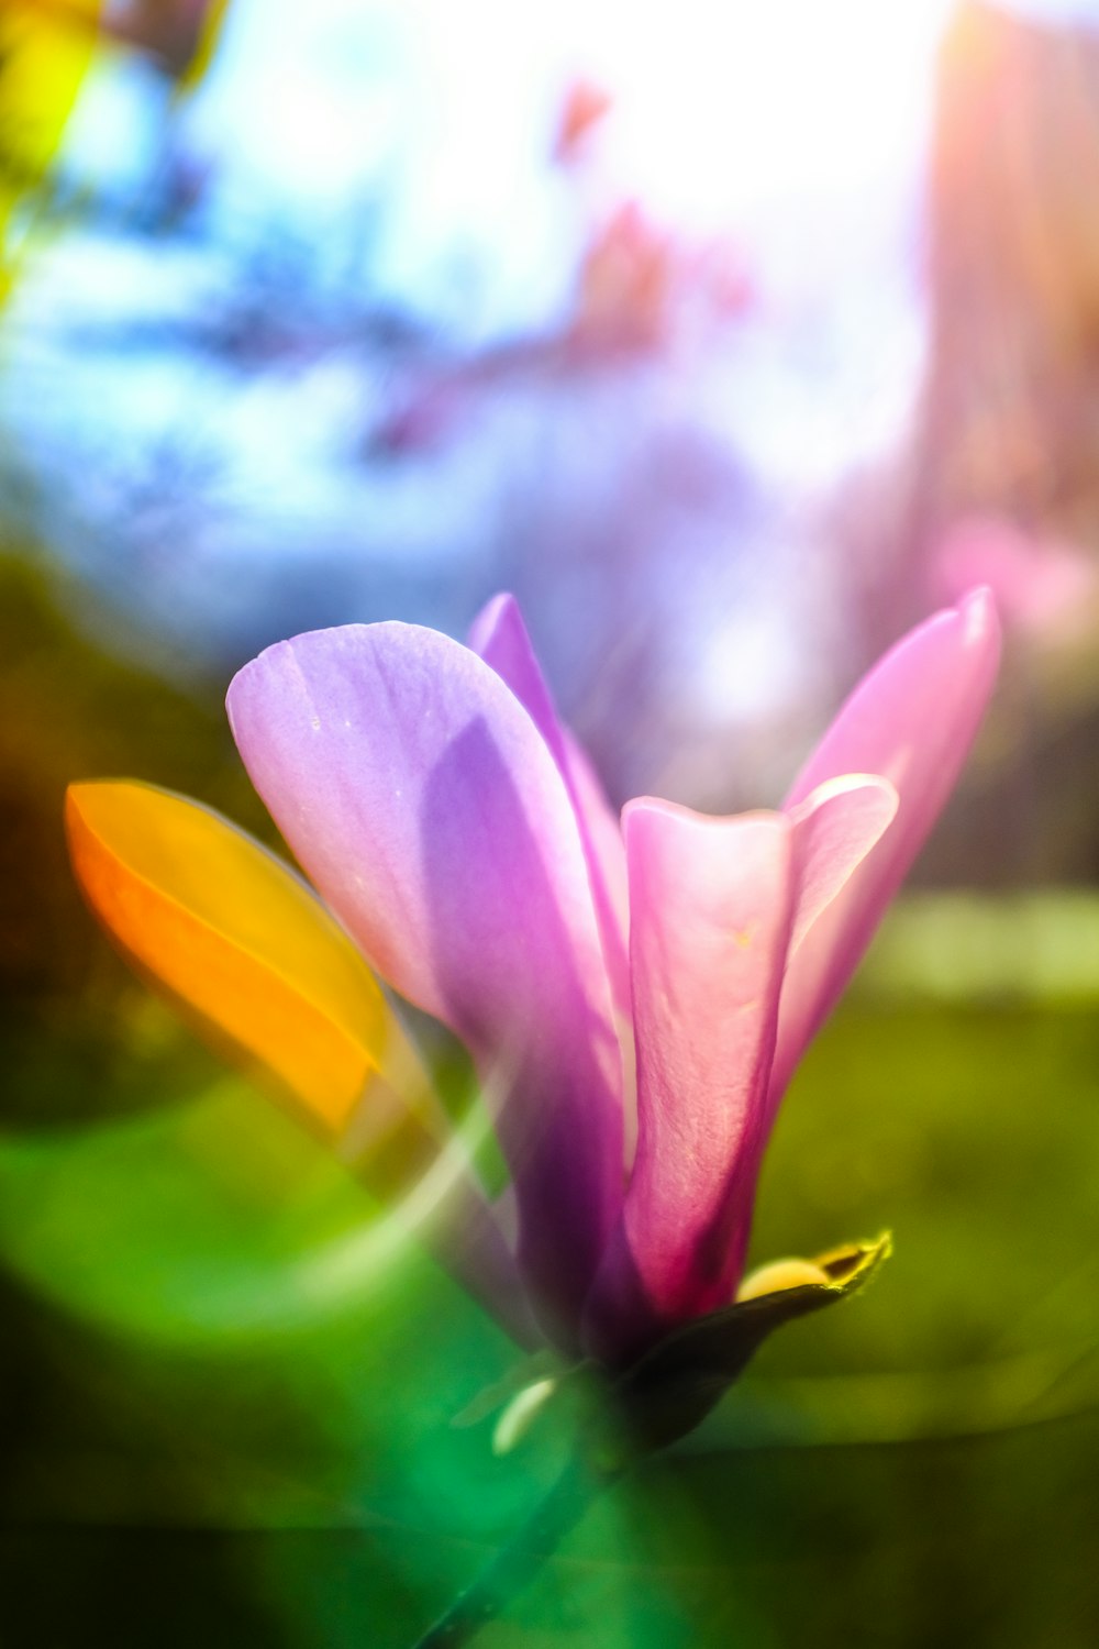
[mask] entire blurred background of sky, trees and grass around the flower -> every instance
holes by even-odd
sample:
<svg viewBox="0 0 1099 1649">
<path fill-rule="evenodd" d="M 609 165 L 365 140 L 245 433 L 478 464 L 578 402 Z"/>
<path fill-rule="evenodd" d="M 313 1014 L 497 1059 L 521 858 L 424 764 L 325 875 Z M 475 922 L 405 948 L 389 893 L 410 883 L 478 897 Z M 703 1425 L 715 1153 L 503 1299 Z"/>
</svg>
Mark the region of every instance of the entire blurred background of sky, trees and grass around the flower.
<svg viewBox="0 0 1099 1649">
<path fill-rule="evenodd" d="M 1003 684 L 755 1253 L 882 1227 L 488 1646 L 1099 1641 L 1099 7 L 0 5 L 0 1642 L 400 1649 L 555 1471 L 507 1344 L 124 970 L 61 795 L 270 839 L 221 699 L 514 589 L 621 801 Z"/>
</svg>

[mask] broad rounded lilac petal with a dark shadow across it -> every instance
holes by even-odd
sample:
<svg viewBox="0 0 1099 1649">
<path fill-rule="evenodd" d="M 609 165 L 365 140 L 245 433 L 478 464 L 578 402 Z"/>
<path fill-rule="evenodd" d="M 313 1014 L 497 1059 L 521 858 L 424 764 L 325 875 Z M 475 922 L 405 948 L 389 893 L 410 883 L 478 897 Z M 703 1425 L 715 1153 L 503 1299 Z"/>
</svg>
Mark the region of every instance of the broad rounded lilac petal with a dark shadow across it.
<svg viewBox="0 0 1099 1649">
<path fill-rule="evenodd" d="M 519 1260 L 568 1342 L 621 1204 L 620 1049 L 573 810 L 529 714 L 432 630 L 297 637 L 229 689 L 244 763 L 366 956 L 503 1095 Z"/>
</svg>

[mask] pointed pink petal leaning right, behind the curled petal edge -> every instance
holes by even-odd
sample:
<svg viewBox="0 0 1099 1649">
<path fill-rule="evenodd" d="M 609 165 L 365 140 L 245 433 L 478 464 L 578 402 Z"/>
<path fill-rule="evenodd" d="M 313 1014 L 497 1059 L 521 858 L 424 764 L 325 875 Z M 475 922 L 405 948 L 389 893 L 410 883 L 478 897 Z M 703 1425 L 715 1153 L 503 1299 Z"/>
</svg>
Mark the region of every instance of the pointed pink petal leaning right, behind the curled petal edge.
<svg viewBox="0 0 1099 1649">
<path fill-rule="evenodd" d="M 880 773 L 900 796 L 882 844 L 804 933 L 779 1014 L 774 1092 L 825 1019 L 949 796 L 1000 660 L 992 597 L 936 613 L 870 671 L 809 759 L 786 808 L 840 773 Z"/>
</svg>

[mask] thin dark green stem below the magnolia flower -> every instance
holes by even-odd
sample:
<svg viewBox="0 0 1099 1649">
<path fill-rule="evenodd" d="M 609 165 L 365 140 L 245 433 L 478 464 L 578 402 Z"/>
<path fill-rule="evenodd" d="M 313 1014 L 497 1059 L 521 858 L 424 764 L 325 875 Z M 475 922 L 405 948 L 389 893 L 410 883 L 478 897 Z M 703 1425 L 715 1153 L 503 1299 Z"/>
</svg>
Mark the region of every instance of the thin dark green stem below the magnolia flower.
<svg viewBox="0 0 1099 1649">
<path fill-rule="evenodd" d="M 458 1644 L 470 1642 L 531 1585 L 588 1506 L 621 1474 L 621 1466 L 600 1468 L 580 1456 L 573 1458 L 517 1534 L 458 1593 L 414 1649 L 456 1649 Z"/>
</svg>

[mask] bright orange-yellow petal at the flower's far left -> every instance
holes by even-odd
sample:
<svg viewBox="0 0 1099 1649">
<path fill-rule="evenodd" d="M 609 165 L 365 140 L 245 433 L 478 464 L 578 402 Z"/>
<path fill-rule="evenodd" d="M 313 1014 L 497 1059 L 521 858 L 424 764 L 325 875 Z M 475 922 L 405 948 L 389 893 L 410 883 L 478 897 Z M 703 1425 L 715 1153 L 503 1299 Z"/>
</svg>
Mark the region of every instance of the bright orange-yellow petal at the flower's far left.
<svg viewBox="0 0 1099 1649">
<path fill-rule="evenodd" d="M 129 956 L 339 1130 L 407 1049 L 313 892 L 208 808 L 152 785 L 71 785 L 69 851 Z"/>
</svg>

